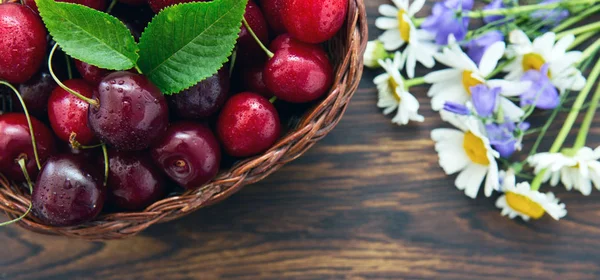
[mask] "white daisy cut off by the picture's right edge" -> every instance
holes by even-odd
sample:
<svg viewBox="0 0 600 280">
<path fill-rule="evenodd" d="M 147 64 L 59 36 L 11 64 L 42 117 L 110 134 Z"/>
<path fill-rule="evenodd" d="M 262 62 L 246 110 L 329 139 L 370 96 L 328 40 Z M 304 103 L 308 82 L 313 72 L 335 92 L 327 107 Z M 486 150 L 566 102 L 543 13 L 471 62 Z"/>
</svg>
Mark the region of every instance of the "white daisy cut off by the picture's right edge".
<svg viewBox="0 0 600 280">
<path fill-rule="evenodd" d="M 592 184 L 600 190 L 600 147 L 592 150 L 589 147 L 579 149 L 574 155 L 563 153 L 539 153 L 527 159 L 538 174 L 546 170 L 543 182 L 550 180 L 550 185 L 560 182 L 567 190 L 578 190 L 583 195 L 592 193 Z"/>
</svg>

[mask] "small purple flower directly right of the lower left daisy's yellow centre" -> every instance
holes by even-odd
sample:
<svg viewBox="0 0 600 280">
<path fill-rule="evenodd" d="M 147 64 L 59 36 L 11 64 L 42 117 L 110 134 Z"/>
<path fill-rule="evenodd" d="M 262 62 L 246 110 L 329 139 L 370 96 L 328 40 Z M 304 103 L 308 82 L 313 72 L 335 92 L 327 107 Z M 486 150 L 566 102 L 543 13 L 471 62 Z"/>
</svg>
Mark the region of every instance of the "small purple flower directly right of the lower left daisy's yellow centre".
<svg viewBox="0 0 600 280">
<path fill-rule="evenodd" d="M 487 124 L 485 128 L 494 150 L 498 151 L 501 157 L 509 158 L 517 147 L 518 140 L 515 138 L 515 130 L 518 128 L 525 131 L 529 128 L 529 123 L 523 122 L 515 125 L 507 120 L 502 124 Z"/>
</svg>

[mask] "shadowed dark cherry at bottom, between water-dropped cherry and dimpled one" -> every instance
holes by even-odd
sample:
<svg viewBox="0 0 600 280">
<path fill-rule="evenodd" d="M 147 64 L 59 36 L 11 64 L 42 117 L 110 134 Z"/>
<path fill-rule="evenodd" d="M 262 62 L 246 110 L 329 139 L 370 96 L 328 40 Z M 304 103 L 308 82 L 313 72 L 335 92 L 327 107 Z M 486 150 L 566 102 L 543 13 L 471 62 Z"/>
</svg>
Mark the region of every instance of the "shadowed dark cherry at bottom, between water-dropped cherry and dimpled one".
<svg viewBox="0 0 600 280">
<path fill-rule="evenodd" d="M 110 150 L 107 204 L 142 210 L 165 194 L 165 177 L 147 154 Z"/>
</svg>

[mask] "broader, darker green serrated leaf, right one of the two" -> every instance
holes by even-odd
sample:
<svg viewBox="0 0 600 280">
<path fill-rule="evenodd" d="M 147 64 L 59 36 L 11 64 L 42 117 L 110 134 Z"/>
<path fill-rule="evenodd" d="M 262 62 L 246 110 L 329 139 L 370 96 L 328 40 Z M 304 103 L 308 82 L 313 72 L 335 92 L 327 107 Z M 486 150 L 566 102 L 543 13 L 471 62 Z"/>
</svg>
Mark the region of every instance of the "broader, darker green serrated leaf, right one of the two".
<svg viewBox="0 0 600 280">
<path fill-rule="evenodd" d="M 210 77 L 227 62 L 248 0 L 186 3 L 164 9 L 140 38 L 138 65 L 164 94 Z"/>
</svg>

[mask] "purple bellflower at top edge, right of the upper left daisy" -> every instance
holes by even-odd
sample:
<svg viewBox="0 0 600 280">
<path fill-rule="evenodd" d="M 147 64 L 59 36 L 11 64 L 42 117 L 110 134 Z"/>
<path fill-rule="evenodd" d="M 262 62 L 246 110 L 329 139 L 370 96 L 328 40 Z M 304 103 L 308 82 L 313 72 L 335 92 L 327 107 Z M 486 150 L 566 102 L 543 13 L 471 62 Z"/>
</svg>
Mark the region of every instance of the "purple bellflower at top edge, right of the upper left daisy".
<svg viewBox="0 0 600 280">
<path fill-rule="evenodd" d="M 459 17 L 459 11 L 473 9 L 473 0 L 446 0 L 433 5 L 431 15 L 428 16 L 421 28 L 435 34 L 438 45 L 448 44 L 448 35 L 453 34 L 457 41 L 467 35 L 469 27 L 468 17 Z"/>
</svg>

